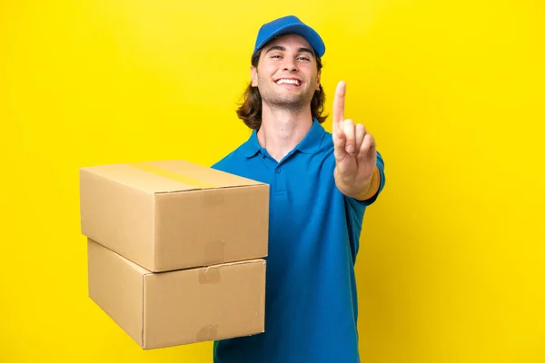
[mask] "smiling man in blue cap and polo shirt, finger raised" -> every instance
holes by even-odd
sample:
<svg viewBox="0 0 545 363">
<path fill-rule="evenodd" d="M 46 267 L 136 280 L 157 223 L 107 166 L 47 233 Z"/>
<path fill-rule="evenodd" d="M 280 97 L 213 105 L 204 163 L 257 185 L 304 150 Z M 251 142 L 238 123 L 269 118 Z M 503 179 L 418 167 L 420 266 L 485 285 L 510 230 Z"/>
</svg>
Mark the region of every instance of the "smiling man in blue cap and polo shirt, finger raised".
<svg viewBox="0 0 545 363">
<path fill-rule="evenodd" d="M 216 363 L 359 362 L 354 263 L 365 208 L 384 186 L 370 132 L 322 123 L 322 38 L 295 16 L 261 27 L 237 113 L 253 133 L 213 165 L 270 184 L 265 332 L 214 343 Z M 252 221 L 248 221 L 252 223 Z"/>
</svg>

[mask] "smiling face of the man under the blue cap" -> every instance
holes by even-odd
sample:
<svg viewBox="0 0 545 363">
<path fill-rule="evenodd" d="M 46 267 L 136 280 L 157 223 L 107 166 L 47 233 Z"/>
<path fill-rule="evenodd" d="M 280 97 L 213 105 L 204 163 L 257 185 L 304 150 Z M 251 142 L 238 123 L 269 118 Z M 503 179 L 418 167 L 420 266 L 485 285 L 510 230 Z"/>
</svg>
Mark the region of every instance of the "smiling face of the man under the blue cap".
<svg viewBox="0 0 545 363">
<path fill-rule="evenodd" d="M 252 85 L 263 103 L 302 108 L 310 105 L 320 89 L 320 72 L 311 45 L 299 34 L 286 34 L 263 47 Z"/>
</svg>

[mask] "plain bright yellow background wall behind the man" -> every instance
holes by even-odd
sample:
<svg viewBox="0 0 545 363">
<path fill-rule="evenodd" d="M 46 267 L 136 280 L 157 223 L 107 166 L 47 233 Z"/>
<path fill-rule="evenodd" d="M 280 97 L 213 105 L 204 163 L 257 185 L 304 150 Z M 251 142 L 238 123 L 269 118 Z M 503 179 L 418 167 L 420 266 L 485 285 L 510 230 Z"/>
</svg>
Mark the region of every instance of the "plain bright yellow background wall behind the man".
<svg viewBox="0 0 545 363">
<path fill-rule="evenodd" d="M 362 361 L 544 362 L 543 2 L 265 4 L 0 3 L 0 361 L 211 362 L 211 343 L 141 350 L 87 298 L 77 170 L 220 159 L 249 135 L 257 29 L 296 14 L 327 45 L 328 113 L 346 80 L 386 162 Z"/>
</svg>

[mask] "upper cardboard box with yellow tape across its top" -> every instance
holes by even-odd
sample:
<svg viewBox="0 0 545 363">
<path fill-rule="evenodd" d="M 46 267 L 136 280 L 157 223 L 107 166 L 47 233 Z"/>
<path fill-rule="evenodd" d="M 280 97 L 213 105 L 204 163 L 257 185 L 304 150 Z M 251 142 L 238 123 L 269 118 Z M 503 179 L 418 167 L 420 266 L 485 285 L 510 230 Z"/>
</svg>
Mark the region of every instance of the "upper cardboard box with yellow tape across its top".
<svg viewBox="0 0 545 363">
<path fill-rule="evenodd" d="M 80 169 L 81 231 L 153 272 L 267 256 L 269 185 L 191 162 Z"/>
</svg>

